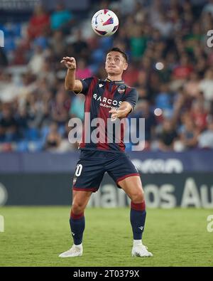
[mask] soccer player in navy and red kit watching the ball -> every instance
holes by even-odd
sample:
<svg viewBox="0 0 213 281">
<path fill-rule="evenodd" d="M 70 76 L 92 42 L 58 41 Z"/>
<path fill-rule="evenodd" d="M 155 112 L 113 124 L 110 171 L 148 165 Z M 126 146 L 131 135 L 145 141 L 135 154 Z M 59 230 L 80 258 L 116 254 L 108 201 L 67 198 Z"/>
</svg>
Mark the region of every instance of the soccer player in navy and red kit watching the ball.
<svg viewBox="0 0 213 281">
<path fill-rule="evenodd" d="M 128 58 L 124 51 L 112 48 L 107 53 L 105 69 L 107 79 L 86 78 L 75 79 L 75 58 L 62 58 L 61 63 L 67 67 L 65 89 L 84 94 L 84 116 L 90 116 L 84 120 L 84 132 L 80 143 L 80 160 L 77 162 L 72 187 L 72 210 L 70 214 L 70 228 L 74 245 L 70 250 L 60 254 L 61 258 L 76 257 L 83 253 L 82 238 L 85 227 L 84 209 L 87 206 L 92 192 L 99 189 L 105 171 L 114 179 L 116 185 L 124 189 L 131 198 L 130 221 L 133 231 L 132 256 L 150 257 L 142 243 L 142 234 L 146 221 L 146 204 L 141 184 L 141 178 L 136 167 L 125 153 L 124 127 L 121 128 L 120 142 L 115 142 L 114 132 L 107 132 L 107 120 L 114 122 L 129 115 L 138 100 L 138 92 L 134 88 L 125 85 L 122 80 L 124 70 L 128 68 Z M 91 124 L 94 118 L 102 118 L 104 126 L 101 126 L 104 142 L 86 142 L 91 136 Z M 90 118 L 90 120 L 89 120 Z M 114 142 L 107 142 L 107 134 L 113 134 Z"/>
</svg>

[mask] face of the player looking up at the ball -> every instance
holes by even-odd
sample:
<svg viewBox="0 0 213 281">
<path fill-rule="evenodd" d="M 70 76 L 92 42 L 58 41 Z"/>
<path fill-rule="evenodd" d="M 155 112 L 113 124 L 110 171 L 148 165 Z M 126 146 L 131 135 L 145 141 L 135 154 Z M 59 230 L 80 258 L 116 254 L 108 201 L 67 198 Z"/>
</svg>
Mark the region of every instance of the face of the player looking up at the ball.
<svg viewBox="0 0 213 281">
<path fill-rule="evenodd" d="M 128 64 L 126 63 L 125 58 L 119 52 L 112 51 L 107 54 L 107 59 L 105 63 L 105 69 L 110 75 L 119 75 L 126 70 Z"/>
</svg>

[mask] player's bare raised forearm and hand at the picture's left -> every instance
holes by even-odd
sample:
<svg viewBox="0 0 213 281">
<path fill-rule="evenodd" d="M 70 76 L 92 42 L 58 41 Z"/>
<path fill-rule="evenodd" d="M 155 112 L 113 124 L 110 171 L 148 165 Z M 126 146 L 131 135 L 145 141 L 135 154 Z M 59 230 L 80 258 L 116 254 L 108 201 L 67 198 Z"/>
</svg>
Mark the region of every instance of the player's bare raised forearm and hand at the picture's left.
<svg viewBox="0 0 213 281">
<path fill-rule="evenodd" d="M 82 82 L 75 79 L 76 61 L 73 57 L 64 57 L 60 61 L 64 63 L 67 68 L 67 75 L 65 78 L 65 89 L 79 94 L 82 91 Z"/>
</svg>

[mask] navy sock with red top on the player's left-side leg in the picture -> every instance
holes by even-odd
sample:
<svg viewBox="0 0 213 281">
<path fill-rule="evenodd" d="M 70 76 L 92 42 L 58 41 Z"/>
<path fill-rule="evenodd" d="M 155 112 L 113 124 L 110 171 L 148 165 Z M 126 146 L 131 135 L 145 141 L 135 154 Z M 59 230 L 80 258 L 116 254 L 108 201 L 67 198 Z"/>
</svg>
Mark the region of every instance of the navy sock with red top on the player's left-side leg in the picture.
<svg viewBox="0 0 213 281">
<path fill-rule="evenodd" d="M 85 218 L 84 213 L 80 215 L 75 215 L 71 211 L 70 215 L 70 228 L 72 233 L 72 238 L 75 245 L 80 245 L 82 243 L 84 228 L 85 228 Z"/>
</svg>

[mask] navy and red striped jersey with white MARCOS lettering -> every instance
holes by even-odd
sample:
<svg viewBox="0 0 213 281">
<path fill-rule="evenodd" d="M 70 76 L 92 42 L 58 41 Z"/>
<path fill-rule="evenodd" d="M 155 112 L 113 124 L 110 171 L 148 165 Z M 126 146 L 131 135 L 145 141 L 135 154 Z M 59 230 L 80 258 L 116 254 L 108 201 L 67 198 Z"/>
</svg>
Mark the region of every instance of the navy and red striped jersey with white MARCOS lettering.
<svg viewBox="0 0 213 281">
<path fill-rule="evenodd" d="M 80 149 L 104 150 L 107 152 L 124 152 L 125 124 L 120 120 L 111 122 L 109 110 L 119 108 L 121 102 L 129 102 L 132 109 L 138 101 L 138 92 L 124 81 L 100 80 L 96 77 L 82 81 L 84 102 L 84 130 Z M 101 118 L 101 122 L 97 121 Z M 119 124 L 120 130 L 116 127 Z M 119 131 L 119 134 L 116 132 Z"/>
</svg>

